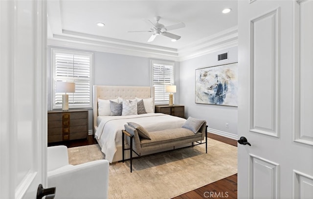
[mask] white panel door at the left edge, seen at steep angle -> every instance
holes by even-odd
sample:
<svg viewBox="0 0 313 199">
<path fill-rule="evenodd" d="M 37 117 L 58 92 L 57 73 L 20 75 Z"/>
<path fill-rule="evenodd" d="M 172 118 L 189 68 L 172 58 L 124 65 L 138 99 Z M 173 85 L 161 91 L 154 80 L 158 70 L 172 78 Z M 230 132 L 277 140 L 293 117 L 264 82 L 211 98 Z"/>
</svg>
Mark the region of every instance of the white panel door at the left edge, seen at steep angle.
<svg viewBox="0 0 313 199">
<path fill-rule="evenodd" d="M 46 185 L 46 2 L 0 1 L 0 198 Z"/>
</svg>

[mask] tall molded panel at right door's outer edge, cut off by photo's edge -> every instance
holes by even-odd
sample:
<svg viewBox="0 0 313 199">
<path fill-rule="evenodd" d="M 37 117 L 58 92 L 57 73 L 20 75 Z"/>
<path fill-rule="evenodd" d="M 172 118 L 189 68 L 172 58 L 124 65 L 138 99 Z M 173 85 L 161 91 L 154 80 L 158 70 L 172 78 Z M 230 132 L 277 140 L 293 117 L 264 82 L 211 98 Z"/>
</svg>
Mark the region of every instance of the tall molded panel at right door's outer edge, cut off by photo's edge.
<svg viewBox="0 0 313 199">
<path fill-rule="evenodd" d="M 295 4 L 294 141 L 313 146 L 313 1 Z"/>
</svg>

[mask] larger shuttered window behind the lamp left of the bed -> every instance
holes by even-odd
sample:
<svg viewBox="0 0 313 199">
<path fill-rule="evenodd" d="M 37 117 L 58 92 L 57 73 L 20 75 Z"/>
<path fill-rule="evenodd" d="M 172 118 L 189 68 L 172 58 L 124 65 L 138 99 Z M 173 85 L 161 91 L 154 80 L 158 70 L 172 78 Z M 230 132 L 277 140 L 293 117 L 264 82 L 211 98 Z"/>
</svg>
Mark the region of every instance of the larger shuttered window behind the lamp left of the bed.
<svg viewBox="0 0 313 199">
<path fill-rule="evenodd" d="M 93 54 L 52 48 L 52 109 L 62 108 L 62 94 L 56 93 L 56 81 L 74 82 L 75 92 L 68 94 L 69 108 L 92 107 Z"/>
</svg>

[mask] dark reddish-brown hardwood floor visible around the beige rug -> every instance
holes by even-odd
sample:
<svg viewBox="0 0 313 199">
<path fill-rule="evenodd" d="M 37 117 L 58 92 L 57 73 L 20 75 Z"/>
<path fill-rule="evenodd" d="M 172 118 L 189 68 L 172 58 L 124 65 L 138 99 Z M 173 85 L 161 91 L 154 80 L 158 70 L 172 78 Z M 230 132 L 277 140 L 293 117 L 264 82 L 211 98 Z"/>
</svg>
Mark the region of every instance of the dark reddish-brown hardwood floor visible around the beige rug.
<svg viewBox="0 0 313 199">
<path fill-rule="evenodd" d="M 208 137 L 226 144 L 237 147 L 237 140 L 223 137 L 217 134 L 208 133 Z M 85 146 L 89 144 L 97 144 L 93 135 L 89 135 L 88 140 L 71 140 L 66 142 L 49 143 L 48 146 L 66 145 L 70 147 Z M 211 184 L 195 189 L 193 191 L 182 194 L 173 199 L 237 199 L 237 174 L 218 180 Z"/>
</svg>

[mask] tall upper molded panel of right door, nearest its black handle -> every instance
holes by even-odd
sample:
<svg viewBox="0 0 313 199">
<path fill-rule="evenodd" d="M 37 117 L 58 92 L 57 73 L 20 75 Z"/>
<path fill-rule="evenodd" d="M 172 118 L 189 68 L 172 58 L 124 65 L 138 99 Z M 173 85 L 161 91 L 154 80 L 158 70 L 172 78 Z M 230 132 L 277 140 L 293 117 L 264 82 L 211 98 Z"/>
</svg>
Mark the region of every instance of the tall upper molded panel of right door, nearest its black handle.
<svg viewBox="0 0 313 199">
<path fill-rule="evenodd" d="M 250 131 L 279 137 L 279 8 L 250 21 Z"/>
</svg>

